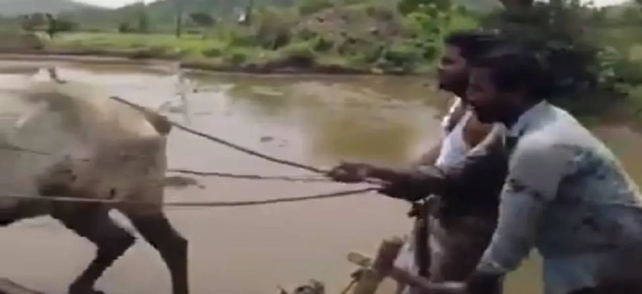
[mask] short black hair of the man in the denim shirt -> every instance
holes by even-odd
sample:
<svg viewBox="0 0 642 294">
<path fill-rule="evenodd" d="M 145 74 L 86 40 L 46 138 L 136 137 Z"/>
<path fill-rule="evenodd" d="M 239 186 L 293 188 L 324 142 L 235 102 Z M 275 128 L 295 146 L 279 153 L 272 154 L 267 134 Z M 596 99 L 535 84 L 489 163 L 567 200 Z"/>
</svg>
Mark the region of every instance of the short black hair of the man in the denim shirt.
<svg viewBox="0 0 642 294">
<path fill-rule="evenodd" d="M 499 91 L 512 92 L 526 87 L 530 98 L 545 99 L 551 94 L 551 75 L 546 62 L 523 46 L 498 47 L 471 61 L 471 67 L 490 70 Z"/>
</svg>

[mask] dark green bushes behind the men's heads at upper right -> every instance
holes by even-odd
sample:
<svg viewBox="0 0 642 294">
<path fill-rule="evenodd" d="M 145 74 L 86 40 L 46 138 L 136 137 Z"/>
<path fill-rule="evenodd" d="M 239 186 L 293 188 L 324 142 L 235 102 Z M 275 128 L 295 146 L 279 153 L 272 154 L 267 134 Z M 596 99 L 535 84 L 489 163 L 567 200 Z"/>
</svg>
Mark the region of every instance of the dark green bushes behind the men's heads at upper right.
<svg viewBox="0 0 642 294">
<path fill-rule="evenodd" d="M 516 1 L 526 3 L 528 1 Z M 630 120 L 642 108 L 642 0 L 594 8 L 574 0 L 491 13 L 497 28 L 538 51 L 553 74 L 553 102 L 580 117 Z M 624 33 L 623 33 L 624 32 Z"/>
</svg>

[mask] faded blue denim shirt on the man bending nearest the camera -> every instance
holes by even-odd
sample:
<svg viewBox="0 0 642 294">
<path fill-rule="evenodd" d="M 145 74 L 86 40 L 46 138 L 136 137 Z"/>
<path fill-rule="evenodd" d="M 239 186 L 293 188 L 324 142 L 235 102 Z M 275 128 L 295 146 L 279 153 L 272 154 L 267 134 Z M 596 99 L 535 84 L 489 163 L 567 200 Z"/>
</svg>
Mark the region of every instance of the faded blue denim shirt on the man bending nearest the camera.
<svg viewBox="0 0 642 294">
<path fill-rule="evenodd" d="M 535 247 L 544 293 L 642 277 L 642 198 L 620 162 L 569 113 L 541 102 L 509 130 L 499 220 L 478 265 L 515 270 Z"/>
</svg>

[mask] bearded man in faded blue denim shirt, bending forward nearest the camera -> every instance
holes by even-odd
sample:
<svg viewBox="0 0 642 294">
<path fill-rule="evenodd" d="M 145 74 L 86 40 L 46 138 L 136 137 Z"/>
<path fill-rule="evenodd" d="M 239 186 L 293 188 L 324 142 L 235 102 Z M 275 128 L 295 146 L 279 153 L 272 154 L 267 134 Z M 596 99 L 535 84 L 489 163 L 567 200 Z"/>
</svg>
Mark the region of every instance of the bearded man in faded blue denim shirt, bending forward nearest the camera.
<svg viewBox="0 0 642 294">
<path fill-rule="evenodd" d="M 507 126 L 514 147 L 492 241 L 467 282 L 443 292 L 486 293 L 535 247 L 546 294 L 642 293 L 639 188 L 600 140 L 546 102 L 546 76 L 519 49 L 471 69 L 467 99 L 482 122 Z M 428 188 L 410 177 L 390 185 L 422 183 Z"/>
</svg>

